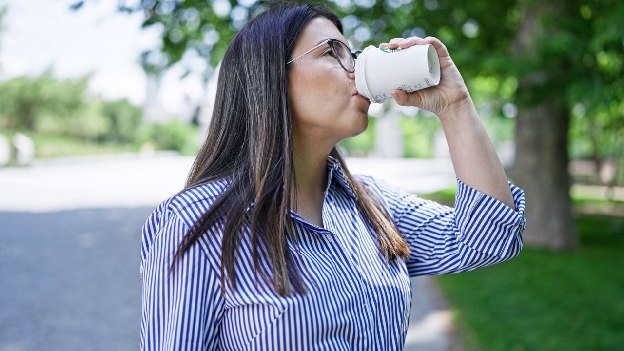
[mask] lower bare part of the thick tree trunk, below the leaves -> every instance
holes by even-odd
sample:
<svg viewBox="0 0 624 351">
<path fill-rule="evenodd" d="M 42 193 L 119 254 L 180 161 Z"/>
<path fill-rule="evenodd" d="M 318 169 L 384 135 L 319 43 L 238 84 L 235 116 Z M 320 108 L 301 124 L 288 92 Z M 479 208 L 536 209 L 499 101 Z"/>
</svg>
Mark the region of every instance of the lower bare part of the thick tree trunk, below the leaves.
<svg viewBox="0 0 624 351">
<path fill-rule="evenodd" d="M 514 181 L 525 191 L 527 245 L 572 250 L 577 245 L 568 174 L 568 111 L 555 102 L 520 108 Z"/>
</svg>

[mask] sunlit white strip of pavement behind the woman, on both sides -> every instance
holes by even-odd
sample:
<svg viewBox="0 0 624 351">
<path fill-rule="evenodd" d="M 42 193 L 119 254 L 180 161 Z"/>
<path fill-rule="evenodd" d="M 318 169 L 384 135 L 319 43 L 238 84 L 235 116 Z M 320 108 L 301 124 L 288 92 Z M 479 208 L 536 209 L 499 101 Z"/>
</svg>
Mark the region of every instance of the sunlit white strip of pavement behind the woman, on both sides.
<svg viewBox="0 0 624 351">
<path fill-rule="evenodd" d="M 67 157 L 29 167 L 0 167 L 0 210 L 46 212 L 98 207 L 150 207 L 182 189 L 193 157 L 170 152 Z M 372 174 L 416 193 L 454 184 L 448 159 L 348 160 L 353 173 Z M 412 180 L 413 179 L 413 180 Z"/>
</svg>

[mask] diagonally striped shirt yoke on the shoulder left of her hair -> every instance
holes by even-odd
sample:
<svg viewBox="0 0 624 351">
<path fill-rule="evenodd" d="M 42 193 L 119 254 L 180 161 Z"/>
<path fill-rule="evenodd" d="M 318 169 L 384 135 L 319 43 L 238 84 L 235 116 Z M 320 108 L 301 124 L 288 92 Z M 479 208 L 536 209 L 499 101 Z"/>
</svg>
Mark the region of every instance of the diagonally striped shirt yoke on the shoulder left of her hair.
<svg viewBox="0 0 624 351">
<path fill-rule="evenodd" d="M 228 185 L 227 180 L 218 180 L 183 190 L 163 201 L 154 212 L 175 215 L 190 227 L 210 208 Z"/>
</svg>

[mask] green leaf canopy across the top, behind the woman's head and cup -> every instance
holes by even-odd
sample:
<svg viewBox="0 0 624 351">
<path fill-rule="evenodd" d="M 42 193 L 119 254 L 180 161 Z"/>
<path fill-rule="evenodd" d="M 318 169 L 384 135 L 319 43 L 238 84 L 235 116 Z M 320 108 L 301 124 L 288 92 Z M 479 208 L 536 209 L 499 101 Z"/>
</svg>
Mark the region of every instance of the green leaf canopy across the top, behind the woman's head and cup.
<svg viewBox="0 0 624 351">
<path fill-rule="evenodd" d="M 84 2 L 77 1 L 75 7 Z M 142 11 L 144 27 L 163 30 L 162 51 L 142 55 L 146 71 L 162 72 L 190 54 L 205 59 L 201 70 L 208 77 L 235 32 L 265 2 L 141 0 L 130 4 L 119 0 L 119 9 Z M 500 119 L 506 115 L 505 106 L 510 111 L 545 101 L 556 102 L 564 111 L 582 109 L 570 125 L 573 156 L 622 157 L 624 2 L 550 0 L 540 6 L 524 0 L 322 3 L 341 17 L 353 49 L 392 37 L 437 36 L 451 52 L 482 115 Z M 519 37 L 522 26 L 533 30 L 529 37 Z M 506 133 L 501 139 L 512 138 Z"/>
</svg>

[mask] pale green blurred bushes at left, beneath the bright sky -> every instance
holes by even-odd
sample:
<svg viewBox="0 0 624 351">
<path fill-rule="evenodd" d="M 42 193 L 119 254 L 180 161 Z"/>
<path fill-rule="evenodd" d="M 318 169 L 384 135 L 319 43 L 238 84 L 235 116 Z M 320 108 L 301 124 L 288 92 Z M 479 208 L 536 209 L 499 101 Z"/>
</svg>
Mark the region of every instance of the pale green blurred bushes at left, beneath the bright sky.
<svg viewBox="0 0 624 351">
<path fill-rule="evenodd" d="M 59 80 L 48 71 L 0 82 L 0 126 L 34 136 L 37 157 L 137 150 L 140 142 L 158 150 L 197 152 L 197 126 L 178 121 L 145 126 L 142 109 L 126 99 L 89 100 L 88 81 Z"/>
</svg>

